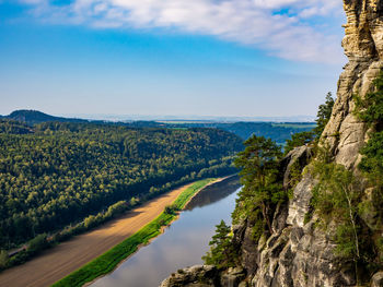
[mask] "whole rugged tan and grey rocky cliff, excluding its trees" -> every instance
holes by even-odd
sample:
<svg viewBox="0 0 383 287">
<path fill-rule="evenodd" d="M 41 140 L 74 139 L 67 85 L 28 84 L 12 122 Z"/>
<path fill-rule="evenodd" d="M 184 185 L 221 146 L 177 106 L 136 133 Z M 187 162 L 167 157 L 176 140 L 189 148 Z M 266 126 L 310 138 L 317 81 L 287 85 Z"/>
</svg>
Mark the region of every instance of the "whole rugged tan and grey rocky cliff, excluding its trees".
<svg viewBox="0 0 383 287">
<path fill-rule="evenodd" d="M 344 0 L 347 15 L 343 47 L 349 62 L 338 81 L 337 100 L 321 144 L 328 148 L 336 164 L 356 170 L 359 150 L 368 140 L 368 127 L 353 113 L 352 96 L 363 97 L 383 67 L 383 1 Z M 307 147 L 292 151 L 282 164 L 283 183 L 289 184 L 289 167 L 309 163 Z M 240 266 L 218 271 L 213 266 L 185 270 L 163 282 L 166 286 L 356 286 L 349 265 L 335 256 L 332 223 L 327 231 L 315 226 L 315 215 L 307 219 L 315 179 L 305 172 L 293 189 L 293 196 L 279 205 L 272 218 L 272 235 L 267 240 L 252 239 L 252 222 L 232 227 L 240 247 Z M 210 276 L 207 276 L 210 274 Z M 371 286 L 383 286 L 383 274 L 371 278 Z"/>
</svg>

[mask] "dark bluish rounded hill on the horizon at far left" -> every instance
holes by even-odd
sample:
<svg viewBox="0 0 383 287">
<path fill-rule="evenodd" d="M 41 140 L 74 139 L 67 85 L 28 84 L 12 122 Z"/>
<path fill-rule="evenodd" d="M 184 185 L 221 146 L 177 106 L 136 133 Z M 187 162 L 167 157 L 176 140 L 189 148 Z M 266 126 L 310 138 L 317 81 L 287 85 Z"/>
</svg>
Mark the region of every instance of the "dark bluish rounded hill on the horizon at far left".
<svg viewBox="0 0 383 287">
<path fill-rule="evenodd" d="M 4 116 L 3 118 L 25 122 L 30 125 L 33 125 L 35 123 L 40 123 L 40 122 L 47 122 L 47 121 L 88 122 L 88 120 L 55 117 L 38 110 L 27 110 L 27 109 L 20 109 L 20 110 L 12 111 L 9 116 Z"/>
</svg>

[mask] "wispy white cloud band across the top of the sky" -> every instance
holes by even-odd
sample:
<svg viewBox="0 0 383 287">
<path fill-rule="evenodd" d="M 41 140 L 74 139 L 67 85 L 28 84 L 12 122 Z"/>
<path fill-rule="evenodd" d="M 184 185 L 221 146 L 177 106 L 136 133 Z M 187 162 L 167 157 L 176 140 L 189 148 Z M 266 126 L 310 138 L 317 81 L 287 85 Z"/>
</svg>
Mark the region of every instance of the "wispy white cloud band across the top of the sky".
<svg viewBox="0 0 383 287">
<path fill-rule="evenodd" d="M 48 22 L 95 28 L 165 28 L 254 46 L 289 60 L 344 60 L 340 34 L 334 35 L 325 25 L 341 16 L 339 0 L 20 1 L 31 5 L 34 16 Z"/>
</svg>

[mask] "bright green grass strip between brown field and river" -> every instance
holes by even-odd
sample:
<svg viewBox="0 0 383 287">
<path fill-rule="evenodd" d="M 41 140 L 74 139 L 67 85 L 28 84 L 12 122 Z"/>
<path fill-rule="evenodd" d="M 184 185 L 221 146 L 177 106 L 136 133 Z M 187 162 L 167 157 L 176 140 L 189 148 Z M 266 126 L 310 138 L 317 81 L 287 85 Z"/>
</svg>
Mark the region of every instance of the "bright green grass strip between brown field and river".
<svg viewBox="0 0 383 287">
<path fill-rule="evenodd" d="M 200 189 L 207 186 L 214 179 L 202 179 L 194 182 L 173 202 L 178 208 L 184 208 L 188 200 L 196 194 Z M 161 232 L 161 227 L 169 225 L 176 215 L 161 213 L 159 217 L 142 227 L 131 237 L 115 246 L 104 254 L 92 260 L 84 266 L 63 277 L 53 285 L 53 287 L 80 287 L 88 282 L 92 282 L 101 275 L 112 272 L 119 262 L 135 253 L 138 247 L 142 243 L 148 243 L 150 239 L 156 237 Z"/>
</svg>

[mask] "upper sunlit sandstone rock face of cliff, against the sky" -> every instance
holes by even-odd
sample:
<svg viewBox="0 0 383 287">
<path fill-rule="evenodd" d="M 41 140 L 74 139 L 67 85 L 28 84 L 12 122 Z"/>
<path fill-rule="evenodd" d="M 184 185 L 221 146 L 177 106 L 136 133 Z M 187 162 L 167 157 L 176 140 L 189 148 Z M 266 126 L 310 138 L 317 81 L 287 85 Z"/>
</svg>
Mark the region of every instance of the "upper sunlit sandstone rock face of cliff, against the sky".
<svg viewBox="0 0 383 287">
<path fill-rule="evenodd" d="M 343 47 L 349 62 L 338 81 L 337 101 L 323 139 L 338 164 L 353 168 L 367 140 L 367 127 L 353 115 L 352 96 L 363 97 L 383 67 L 383 11 L 381 0 L 345 0 L 347 15 Z"/>
</svg>

